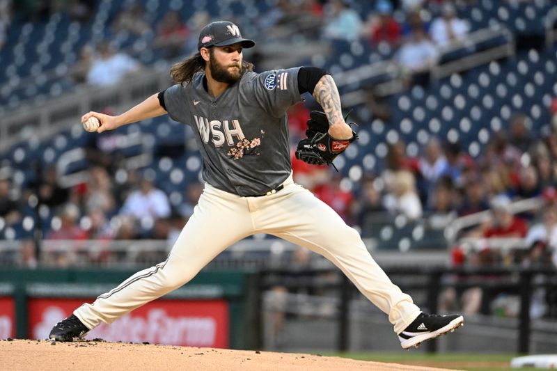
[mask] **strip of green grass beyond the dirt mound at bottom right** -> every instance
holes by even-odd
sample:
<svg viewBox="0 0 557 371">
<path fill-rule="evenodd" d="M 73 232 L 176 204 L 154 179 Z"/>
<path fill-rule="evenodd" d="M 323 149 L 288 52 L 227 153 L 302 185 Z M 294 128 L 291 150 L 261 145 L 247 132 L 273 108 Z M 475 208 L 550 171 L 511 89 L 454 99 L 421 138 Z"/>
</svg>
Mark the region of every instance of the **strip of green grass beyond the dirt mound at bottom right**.
<svg viewBox="0 0 557 371">
<path fill-rule="evenodd" d="M 375 361 L 385 363 L 407 363 L 413 365 L 430 366 L 437 368 L 452 368 L 466 371 L 502 371 L 513 370 L 510 368 L 510 361 L 515 358 L 515 354 L 464 354 L 464 353 L 443 353 L 425 354 L 411 352 L 397 353 L 330 353 L 324 356 L 338 356 L 352 358 L 360 361 Z M 465 365 L 465 367 L 463 367 Z M 519 370 L 519 369 L 516 369 Z M 541 370 L 538 368 L 528 368 L 528 370 Z"/>
</svg>

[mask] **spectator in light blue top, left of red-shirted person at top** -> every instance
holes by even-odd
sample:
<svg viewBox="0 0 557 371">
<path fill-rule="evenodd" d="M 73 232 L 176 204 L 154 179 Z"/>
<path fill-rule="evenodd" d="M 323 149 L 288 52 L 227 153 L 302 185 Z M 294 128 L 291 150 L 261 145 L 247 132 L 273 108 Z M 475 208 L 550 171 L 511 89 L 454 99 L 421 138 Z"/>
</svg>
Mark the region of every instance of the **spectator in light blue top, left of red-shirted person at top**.
<svg viewBox="0 0 557 371">
<path fill-rule="evenodd" d="M 344 0 L 329 0 L 325 13 L 324 36 L 331 40 L 356 40 L 361 29 L 361 18 Z"/>
</svg>

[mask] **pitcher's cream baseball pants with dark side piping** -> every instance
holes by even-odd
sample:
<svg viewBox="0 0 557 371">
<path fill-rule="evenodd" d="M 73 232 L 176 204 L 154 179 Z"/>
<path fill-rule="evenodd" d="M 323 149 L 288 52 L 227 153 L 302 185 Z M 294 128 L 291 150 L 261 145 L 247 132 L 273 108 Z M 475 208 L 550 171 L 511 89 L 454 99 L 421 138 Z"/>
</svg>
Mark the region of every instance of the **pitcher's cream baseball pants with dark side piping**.
<svg viewBox="0 0 557 371">
<path fill-rule="evenodd" d="M 168 259 L 139 271 L 110 292 L 74 310 L 93 329 L 184 285 L 221 251 L 244 237 L 267 233 L 305 246 L 334 263 L 384 313 L 395 333 L 404 330 L 420 309 L 402 293 L 363 244 L 327 204 L 292 181 L 260 197 L 242 197 L 205 185 L 198 205 L 180 232 Z"/>
</svg>

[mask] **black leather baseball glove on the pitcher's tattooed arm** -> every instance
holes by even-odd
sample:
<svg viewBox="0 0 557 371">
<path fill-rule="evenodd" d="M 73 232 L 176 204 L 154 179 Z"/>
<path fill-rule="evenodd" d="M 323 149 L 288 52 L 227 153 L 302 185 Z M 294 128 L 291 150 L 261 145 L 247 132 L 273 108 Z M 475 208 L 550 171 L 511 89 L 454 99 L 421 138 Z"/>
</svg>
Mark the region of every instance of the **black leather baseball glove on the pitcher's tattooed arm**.
<svg viewBox="0 0 557 371">
<path fill-rule="evenodd" d="M 329 120 L 324 112 L 311 111 L 309 117 L 307 138 L 299 141 L 296 158 L 312 165 L 331 164 L 338 171 L 333 160 L 344 152 L 350 143 L 358 139 L 358 135 L 352 131 L 350 139 L 334 139 L 329 134 Z"/>
</svg>

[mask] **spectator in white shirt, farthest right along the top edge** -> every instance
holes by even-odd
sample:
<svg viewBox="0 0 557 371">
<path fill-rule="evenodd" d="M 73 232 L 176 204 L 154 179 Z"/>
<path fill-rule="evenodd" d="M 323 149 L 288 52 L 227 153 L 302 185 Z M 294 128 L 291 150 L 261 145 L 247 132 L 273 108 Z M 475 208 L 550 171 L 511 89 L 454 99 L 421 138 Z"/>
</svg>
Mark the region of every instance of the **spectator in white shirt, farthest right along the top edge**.
<svg viewBox="0 0 557 371">
<path fill-rule="evenodd" d="M 432 22 L 430 35 L 437 45 L 443 46 L 455 40 L 463 40 L 469 28 L 468 22 L 457 18 L 455 6 L 447 2 L 441 8 L 441 17 Z"/>
</svg>

